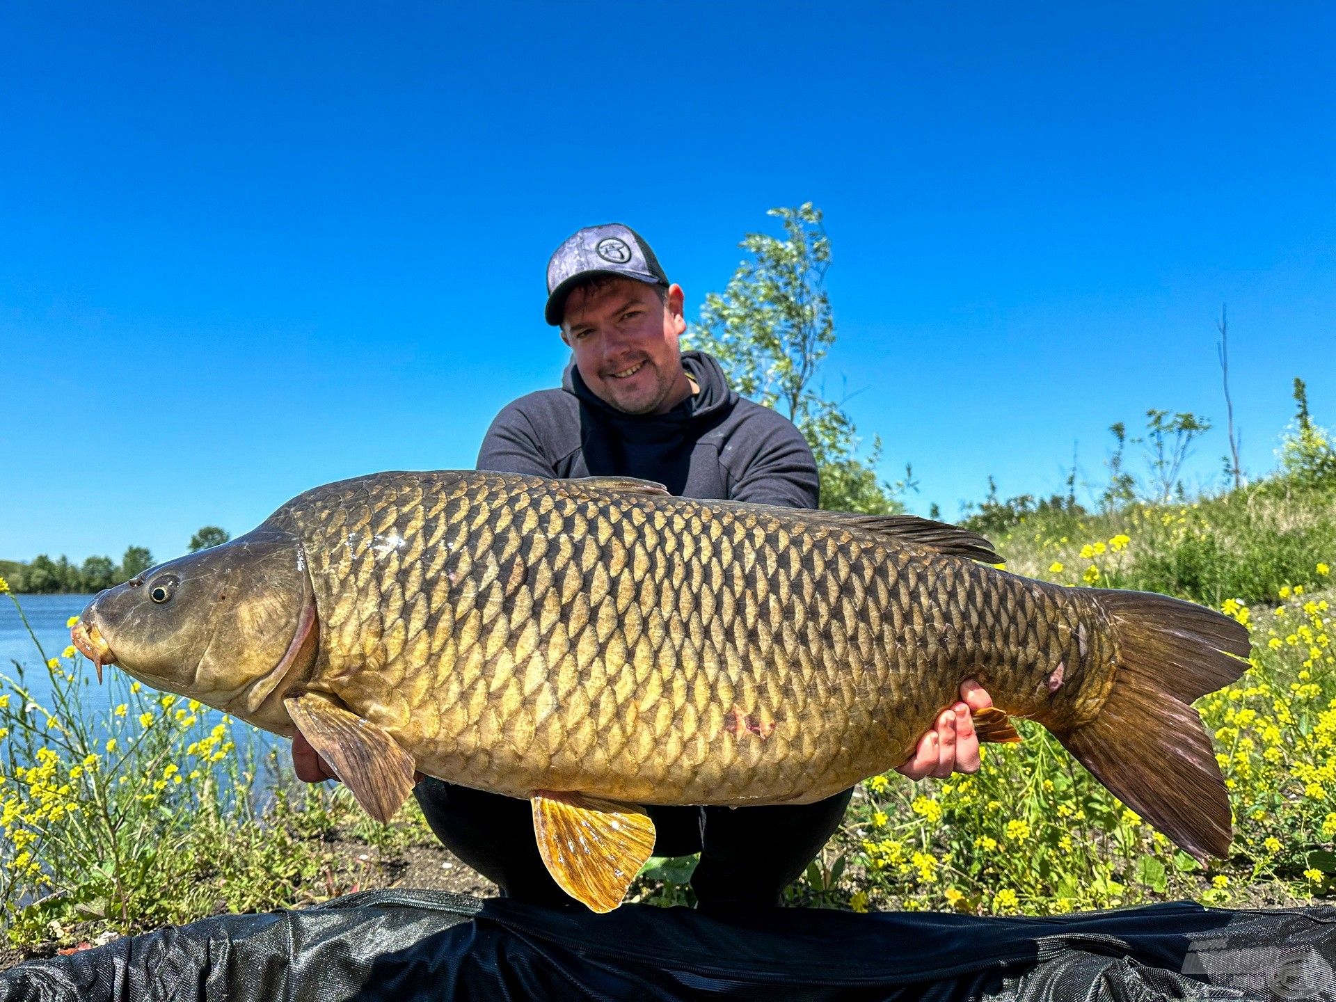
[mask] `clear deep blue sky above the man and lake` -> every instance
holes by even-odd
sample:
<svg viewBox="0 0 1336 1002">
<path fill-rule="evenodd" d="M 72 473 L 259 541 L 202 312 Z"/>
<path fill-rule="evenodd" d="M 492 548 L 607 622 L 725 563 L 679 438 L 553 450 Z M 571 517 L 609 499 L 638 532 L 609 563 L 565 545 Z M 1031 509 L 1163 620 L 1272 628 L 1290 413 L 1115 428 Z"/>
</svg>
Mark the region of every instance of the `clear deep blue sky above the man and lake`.
<svg viewBox="0 0 1336 1002">
<path fill-rule="evenodd" d="M 695 315 L 803 200 L 827 391 L 914 510 L 1222 426 L 1222 302 L 1264 473 L 1295 375 L 1336 425 L 1333 65 L 1325 3 L 7 3 L 0 557 L 470 466 L 556 385 L 566 234 L 633 224 Z"/>
</svg>

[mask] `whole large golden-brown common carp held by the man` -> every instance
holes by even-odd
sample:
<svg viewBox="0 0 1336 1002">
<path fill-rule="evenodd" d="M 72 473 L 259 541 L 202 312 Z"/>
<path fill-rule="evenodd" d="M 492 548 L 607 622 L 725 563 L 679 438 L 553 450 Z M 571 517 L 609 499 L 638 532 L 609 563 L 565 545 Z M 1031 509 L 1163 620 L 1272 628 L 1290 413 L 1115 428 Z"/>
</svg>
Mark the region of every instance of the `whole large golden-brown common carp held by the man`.
<svg viewBox="0 0 1336 1002">
<path fill-rule="evenodd" d="M 982 562 L 979 562 L 982 561 Z M 998 570 L 908 516 L 617 478 L 379 473 L 102 592 L 98 664 L 291 736 L 387 820 L 414 771 L 532 799 L 553 878 L 617 906 L 643 804 L 779 804 L 902 764 L 963 679 L 1047 727 L 1189 852 L 1230 815 L 1189 705 L 1246 668 L 1190 603 Z"/>
</svg>

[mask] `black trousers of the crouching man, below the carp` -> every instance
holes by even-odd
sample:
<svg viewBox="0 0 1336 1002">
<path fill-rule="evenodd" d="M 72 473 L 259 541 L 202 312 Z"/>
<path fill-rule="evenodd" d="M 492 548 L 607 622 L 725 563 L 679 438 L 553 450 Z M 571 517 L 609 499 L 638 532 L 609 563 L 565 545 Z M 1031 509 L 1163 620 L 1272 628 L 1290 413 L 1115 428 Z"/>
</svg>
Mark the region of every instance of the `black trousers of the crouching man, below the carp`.
<svg viewBox="0 0 1336 1002">
<path fill-rule="evenodd" d="M 655 855 L 700 852 L 691 878 L 701 908 L 778 907 L 783 891 L 835 834 L 852 790 L 811 804 L 776 807 L 648 807 Z M 436 836 L 509 898 L 566 906 L 548 874 L 528 800 L 424 779 L 414 795 Z"/>
</svg>

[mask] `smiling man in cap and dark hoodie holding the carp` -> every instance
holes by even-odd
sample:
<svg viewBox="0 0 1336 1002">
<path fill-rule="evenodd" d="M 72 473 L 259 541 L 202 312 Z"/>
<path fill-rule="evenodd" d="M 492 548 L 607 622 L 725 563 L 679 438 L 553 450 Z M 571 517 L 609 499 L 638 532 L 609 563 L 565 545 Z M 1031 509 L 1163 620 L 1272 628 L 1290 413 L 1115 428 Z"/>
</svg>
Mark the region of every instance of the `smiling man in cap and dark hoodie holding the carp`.
<svg viewBox="0 0 1336 1002">
<path fill-rule="evenodd" d="M 502 409 L 478 469 L 641 477 L 684 497 L 816 508 L 816 464 L 798 429 L 739 397 L 709 355 L 680 351 L 683 302 L 681 286 L 668 282 L 629 227 L 592 226 L 566 239 L 548 262 L 545 315 L 573 362 L 562 389 Z M 970 681 L 961 696 L 900 772 L 922 779 L 978 770 L 970 711 L 991 700 Z M 301 737 L 293 759 L 307 782 L 331 778 Z M 703 908 L 774 907 L 839 827 L 851 792 L 799 806 L 649 807 L 655 852 L 700 852 L 692 887 Z M 508 895 L 572 903 L 538 856 L 526 800 L 430 778 L 415 794 L 441 842 Z"/>
</svg>

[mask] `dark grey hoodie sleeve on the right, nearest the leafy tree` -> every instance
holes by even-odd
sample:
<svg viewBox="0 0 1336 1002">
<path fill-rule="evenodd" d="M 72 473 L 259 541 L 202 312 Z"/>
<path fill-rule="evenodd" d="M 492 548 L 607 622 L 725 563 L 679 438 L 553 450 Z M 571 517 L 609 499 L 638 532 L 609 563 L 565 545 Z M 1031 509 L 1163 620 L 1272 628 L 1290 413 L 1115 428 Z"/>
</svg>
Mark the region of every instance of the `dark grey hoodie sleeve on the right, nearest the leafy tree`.
<svg viewBox="0 0 1336 1002">
<path fill-rule="evenodd" d="M 816 460 L 802 433 L 767 407 L 756 407 L 748 424 L 754 428 L 735 436 L 725 449 L 743 453 L 736 456 L 741 461 L 731 470 L 733 482 L 728 492 L 729 500 L 784 508 L 816 508 L 820 500 Z M 743 446 L 743 442 L 749 448 Z M 725 457 L 725 466 L 732 465 L 728 458 L 735 457 Z"/>
</svg>

